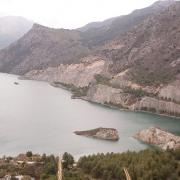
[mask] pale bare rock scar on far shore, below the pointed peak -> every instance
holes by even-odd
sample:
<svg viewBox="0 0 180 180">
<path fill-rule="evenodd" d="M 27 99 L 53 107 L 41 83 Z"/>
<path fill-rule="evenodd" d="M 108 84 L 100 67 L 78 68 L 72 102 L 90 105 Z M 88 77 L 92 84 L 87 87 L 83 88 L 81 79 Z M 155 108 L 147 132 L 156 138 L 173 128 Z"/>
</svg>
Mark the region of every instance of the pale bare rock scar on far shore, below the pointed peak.
<svg viewBox="0 0 180 180">
<path fill-rule="evenodd" d="M 87 60 L 88 59 L 88 60 Z M 95 75 L 108 73 L 108 64 L 101 57 L 89 57 L 79 64 L 49 67 L 45 70 L 33 70 L 24 77 L 28 79 L 43 80 L 72 84 L 76 87 L 86 87 L 95 81 Z"/>
</svg>

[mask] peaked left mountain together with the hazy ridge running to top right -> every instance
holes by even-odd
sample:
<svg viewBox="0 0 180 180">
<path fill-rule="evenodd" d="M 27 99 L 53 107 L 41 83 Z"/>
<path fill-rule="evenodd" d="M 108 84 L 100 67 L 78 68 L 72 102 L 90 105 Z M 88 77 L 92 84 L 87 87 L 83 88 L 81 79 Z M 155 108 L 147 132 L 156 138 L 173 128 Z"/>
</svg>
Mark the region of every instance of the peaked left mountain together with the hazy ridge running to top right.
<svg viewBox="0 0 180 180">
<path fill-rule="evenodd" d="M 147 17 L 163 11 L 172 1 L 160 1 L 145 9 L 88 25 L 78 30 L 52 29 L 40 25 L 17 42 L 0 51 L 0 71 L 24 74 L 61 63 L 78 63 L 93 54 L 104 43 L 142 23 Z"/>
</svg>

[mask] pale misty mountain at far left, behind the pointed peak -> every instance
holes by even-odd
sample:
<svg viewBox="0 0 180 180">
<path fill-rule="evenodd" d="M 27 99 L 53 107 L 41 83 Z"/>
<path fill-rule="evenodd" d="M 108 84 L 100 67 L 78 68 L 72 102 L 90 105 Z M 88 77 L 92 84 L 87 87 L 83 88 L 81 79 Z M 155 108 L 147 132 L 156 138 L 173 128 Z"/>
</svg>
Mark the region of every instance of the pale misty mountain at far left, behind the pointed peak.
<svg viewBox="0 0 180 180">
<path fill-rule="evenodd" d="M 22 37 L 32 27 L 32 22 L 22 17 L 0 17 L 0 49 Z"/>
</svg>

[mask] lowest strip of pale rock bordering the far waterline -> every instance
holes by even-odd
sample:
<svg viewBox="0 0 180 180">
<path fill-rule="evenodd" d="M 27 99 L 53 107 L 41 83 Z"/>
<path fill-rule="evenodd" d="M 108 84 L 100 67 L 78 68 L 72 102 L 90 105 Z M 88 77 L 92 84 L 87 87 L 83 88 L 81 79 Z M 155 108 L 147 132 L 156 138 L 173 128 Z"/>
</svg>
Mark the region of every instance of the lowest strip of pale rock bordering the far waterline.
<svg viewBox="0 0 180 180">
<path fill-rule="evenodd" d="M 71 88 L 67 88 L 67 86 L 77 87 L 78 90 L 81 90 L 81 88 L 83 89 L 85 87 L 78 87 L 76 83 L 74 84 L 66 81 L 55 82 L 54 78 L 52 77 L 49 77 L 50 79 L 44 79 L 41 77 L 39 78 L 36 75 L 34 76 L 27 74 L 25 76 L 20 77 L 20 79 L 46 81 L 54 87 L 70 91 L 72 91 Z M 158 97 L 144 96 L 141 98 L 137 98 L 134 94 L 124 92 L 123 89 L 114 88 L 105 84 L 94 83 L 89 87 L 86 86 L 86 88 L 87 92 L 83 93 L 83 96 L 76 96 L 72 91 L 73 99 L 82 99 L 85 101 L 102 104 L 108 107 L 116 107 L 122 110 L 147 112 L 175 118 L 179 118 L 180 116 L 180 104 L 177 104 L 175 102 L 159 99 Z"/>
</svg>

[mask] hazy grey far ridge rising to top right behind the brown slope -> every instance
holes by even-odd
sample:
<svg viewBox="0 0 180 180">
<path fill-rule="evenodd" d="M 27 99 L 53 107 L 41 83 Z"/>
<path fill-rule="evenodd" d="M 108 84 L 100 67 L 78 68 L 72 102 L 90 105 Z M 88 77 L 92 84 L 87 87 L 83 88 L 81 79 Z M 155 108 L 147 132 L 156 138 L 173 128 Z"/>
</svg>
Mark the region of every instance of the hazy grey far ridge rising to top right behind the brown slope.
<svg viewBox="0 0 180 180">
<path fill-rule="evenodd" d="M 149 7 L 133 11 L 131 14 L 111 18 L 103 22 L 90 23 L 79 30 L 83 32 L 83 36 L 89 44 L 98 46 L 127 32 L 150 15 L 163 11 L 173 3 L 172 0 L 157 1 Z"/>
</svg>

